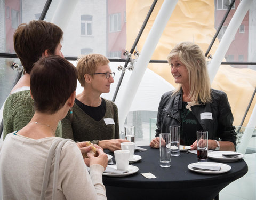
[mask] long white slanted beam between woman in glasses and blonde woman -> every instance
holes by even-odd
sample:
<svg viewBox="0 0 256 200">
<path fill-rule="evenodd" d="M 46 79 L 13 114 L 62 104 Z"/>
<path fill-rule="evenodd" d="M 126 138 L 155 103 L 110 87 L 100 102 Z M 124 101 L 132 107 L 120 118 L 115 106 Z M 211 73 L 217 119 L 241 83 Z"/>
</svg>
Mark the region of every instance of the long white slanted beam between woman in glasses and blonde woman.
<svg viewBox="0 0 256 200">
<path fill-rule="evenodd" d="M 127 83 L 125 92 L 119 103 L 119 126 L 122 130 L 129 109 L 132 105 L 132 101 L 140 85 L 141 79 L 147 69 L 148 63 L 154 53 L 156 45 L 164 31 L 167 22 L 169 21 L 171 14 L 174 10 L 178 0 L 165 0 L 161 9 L 159 10 L 154 24 L 149 32 L 146 42 L 140 52 L 140 56 L 135 63 L 129 82 Z M 154 80 L 152 80 L 154 81 Z"/>
</svg>

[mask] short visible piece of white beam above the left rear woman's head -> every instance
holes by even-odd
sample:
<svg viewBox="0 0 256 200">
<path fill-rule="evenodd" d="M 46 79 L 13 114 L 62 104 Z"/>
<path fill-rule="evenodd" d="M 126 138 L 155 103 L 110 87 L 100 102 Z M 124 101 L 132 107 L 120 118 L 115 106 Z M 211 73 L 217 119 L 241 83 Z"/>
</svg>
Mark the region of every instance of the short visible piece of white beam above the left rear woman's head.
<svg viewBox="0 0 256 200">
<path fill-rule="evenodd" d="M 52 17 L 52 23 L 58 25 L 65 32 L 69 19 L 75 10 L 78 0 L 60 0 Z"/>
</svg>

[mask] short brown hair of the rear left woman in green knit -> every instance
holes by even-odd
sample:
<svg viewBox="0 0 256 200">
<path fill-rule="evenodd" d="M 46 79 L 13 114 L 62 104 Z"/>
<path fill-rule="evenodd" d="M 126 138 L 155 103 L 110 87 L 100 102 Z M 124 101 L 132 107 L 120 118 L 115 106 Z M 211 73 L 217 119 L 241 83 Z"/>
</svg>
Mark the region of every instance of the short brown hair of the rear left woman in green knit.
<svg viewBox="0 0 256 200">
<path fill-rule="evenodd" d="M 45 50 L 54 55 L 62 37 L 61 28 L 50 22 L 33 20 L 19 25 L 13 35 L 13 43 L 25 72 L 30 74 L 33 64 Z"/>
</svg>

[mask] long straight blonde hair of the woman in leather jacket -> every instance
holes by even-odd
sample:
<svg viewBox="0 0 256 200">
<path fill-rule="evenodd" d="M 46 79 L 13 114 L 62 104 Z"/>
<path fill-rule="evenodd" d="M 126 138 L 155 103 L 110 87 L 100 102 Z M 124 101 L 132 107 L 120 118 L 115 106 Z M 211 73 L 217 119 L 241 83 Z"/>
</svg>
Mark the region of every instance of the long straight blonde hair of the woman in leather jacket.
<svg viewBox="0 0 256 200">
<path fill-rule="evenodd" d="M 203 51 L 197 44 L 181 42 L 167 56 L 169 65 L 170 61 L 177 56 L 188 70 L 189 98 L 191 101 L 196 104 L 199 104 L 199 101 L 202 103 L 211 102 L 211 84 Z M 179 84 L 173 95 L 180 91 L 181 86 Z"/>
</svg>

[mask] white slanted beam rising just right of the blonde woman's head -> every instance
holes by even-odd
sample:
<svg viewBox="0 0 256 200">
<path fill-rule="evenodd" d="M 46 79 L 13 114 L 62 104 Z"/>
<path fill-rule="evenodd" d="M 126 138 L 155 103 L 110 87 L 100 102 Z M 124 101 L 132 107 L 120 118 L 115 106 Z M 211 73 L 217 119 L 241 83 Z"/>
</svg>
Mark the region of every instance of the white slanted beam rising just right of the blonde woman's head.
<svg viewBox="0 0 256 200">
<path fill-rule="evenodd" d="M 213 55 L 208 69 L 211 83 L 213 82 L 213 79 L 217 74 L 222 59 L 225 57 L 225 54 L 227 53 L 228 48 L 236 35 L 236 31 L 241 25 L 245 14 L 250 9 L 250 5 L 252 4 L 252 2 L 253 0 L 243 0 L 240 2 L 235 14 L 233 15 L 233 18 L 231 19 L 227 27 L 227 30 L 225 31 L 225 34 L 221 38 L 220 44 L 215 54 Z"/>
</svg>

